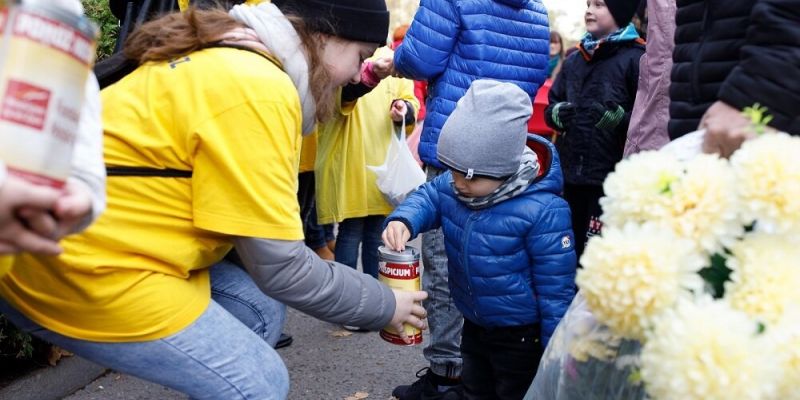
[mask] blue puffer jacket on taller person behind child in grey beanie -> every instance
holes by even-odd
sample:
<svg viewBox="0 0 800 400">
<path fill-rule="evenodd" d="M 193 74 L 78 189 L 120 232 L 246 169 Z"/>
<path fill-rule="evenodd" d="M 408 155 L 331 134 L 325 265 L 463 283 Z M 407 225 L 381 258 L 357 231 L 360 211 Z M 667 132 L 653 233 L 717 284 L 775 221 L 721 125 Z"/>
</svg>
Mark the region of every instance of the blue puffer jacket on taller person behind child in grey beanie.
<svg viewBox="0 0 800 400">
<path fill-rule="evenodd" d="M 422 161 L 444 168 L 436 159 L 439 131 L 472 81 L 513 82 L 532 99 L 547 77 L 549 52 L 540 0 L 422 0 L 394 55 L 404 76 L 429 83 Z"/>
</svg>

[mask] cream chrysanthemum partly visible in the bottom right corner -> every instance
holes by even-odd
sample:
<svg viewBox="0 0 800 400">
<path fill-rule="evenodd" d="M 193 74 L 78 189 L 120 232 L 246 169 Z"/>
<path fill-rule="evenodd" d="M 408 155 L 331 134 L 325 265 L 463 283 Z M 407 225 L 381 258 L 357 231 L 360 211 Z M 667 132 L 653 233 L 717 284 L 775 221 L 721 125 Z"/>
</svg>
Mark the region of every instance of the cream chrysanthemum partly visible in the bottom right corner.
<svg viewBox="0 0 800 400">
<path fill-rule="evenodd" d="M 768 327 L 767 351 L 778 360 L 782 376 L 778 382 L 775 399 L 800 400 L 800 315 L 787 315 L 780 323 Z"/>
</svg>

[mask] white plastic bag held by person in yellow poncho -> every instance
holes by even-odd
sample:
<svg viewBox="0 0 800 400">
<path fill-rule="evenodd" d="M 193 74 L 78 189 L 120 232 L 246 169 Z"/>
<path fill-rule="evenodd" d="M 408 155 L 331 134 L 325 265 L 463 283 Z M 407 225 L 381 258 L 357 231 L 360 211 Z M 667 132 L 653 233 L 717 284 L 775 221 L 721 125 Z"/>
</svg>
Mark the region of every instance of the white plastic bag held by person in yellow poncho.
<svg viewBox="0 0 800 400">
<path fill-rule="evenodd" d="M 367 168 L 378 177 L 376 181 L 378 190 L 394 206 L 402 203 L 409 193 L 425 183 L 425 172 L 414 160 L 405 138 L 400 138 L 405 132 L 405 127 L 404 118 L 400 135 L 392 133 L 392 141 L 389 142 L 386 160 L 383 164 L 378 166 L 367 165 Z"/>
</svg>

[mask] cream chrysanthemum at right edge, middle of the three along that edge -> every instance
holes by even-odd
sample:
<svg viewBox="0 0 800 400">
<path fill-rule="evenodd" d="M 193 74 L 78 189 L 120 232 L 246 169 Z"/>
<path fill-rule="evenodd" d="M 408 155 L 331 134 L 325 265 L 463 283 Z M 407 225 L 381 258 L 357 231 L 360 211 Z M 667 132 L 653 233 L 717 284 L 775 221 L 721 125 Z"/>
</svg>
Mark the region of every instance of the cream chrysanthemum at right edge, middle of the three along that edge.
<svg viewBox="0 0 800 400">
<path fill-rule="evenodd" d="M 751 234 L 731 248 L 725 299 L 751 317 L 774 324 L 800 306 L 800 240 Z"/>
</svg>

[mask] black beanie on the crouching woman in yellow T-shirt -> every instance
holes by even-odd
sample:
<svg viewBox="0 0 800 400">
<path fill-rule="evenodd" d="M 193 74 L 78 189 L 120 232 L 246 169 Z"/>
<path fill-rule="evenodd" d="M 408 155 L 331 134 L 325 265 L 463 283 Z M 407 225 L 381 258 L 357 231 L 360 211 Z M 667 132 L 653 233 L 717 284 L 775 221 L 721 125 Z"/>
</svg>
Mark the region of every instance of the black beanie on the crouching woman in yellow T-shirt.
<svg viewBox="0 0 800 400">
<path fill-rule="evenodd" d="M 385 0 L 273 0 L 284 13 L 303 18 L 308 27 L 344 39 L 386 44 L 389 10 Z"/>
</svg>

